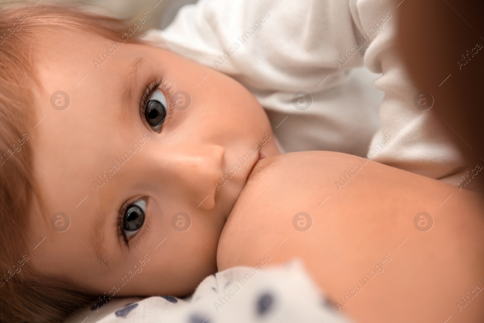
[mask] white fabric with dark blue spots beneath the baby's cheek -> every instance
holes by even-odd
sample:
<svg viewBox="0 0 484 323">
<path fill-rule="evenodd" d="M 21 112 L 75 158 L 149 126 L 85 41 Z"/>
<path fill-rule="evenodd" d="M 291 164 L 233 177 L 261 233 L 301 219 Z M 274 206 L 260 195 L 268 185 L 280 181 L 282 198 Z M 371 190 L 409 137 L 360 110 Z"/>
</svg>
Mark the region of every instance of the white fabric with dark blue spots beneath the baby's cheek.
<svg viewBox="0 0 484 323">
<path fill-rule="evenodd" d="M 329 306 L 302 265 L 235 267 L 206 277 L 186 299 L 112 298 L 65 323 L 349 323 Z"/>
</svg>

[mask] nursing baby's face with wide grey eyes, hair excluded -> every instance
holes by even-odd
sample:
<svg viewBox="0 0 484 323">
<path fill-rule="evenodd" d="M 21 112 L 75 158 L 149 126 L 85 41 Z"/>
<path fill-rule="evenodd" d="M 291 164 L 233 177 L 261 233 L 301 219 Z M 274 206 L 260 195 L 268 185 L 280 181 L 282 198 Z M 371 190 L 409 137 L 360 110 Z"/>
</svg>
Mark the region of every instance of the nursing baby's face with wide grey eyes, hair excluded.
<svg viewBox="0 0 484 323">
<path fill-rule="evenodd" d="M 159 48 L 40 38 L 28 135 L 45 215 L 31 218 L 31 263 L 110 296 L 190 293 L 216 271 L 252 167 L 278 154 L 265 112 L 233 79 Z"/>
</svg>

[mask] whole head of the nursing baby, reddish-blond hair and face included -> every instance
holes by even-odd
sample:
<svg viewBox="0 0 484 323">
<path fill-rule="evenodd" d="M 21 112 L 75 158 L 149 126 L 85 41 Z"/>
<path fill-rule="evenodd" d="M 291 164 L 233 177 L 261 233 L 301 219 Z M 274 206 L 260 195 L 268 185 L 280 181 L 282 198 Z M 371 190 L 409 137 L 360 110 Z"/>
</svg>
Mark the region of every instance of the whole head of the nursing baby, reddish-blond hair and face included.
<svg viewBox="0 0 484 323">
<path fill-rule="evenodd" d="M 265 112 L 233 79 L 138 40 L 150 13 L 124 24 L 33 4 L 0 13 L 3 320 L 189 294 L 217 269 L 260 151 L 278 153 Z"/>
</svg>

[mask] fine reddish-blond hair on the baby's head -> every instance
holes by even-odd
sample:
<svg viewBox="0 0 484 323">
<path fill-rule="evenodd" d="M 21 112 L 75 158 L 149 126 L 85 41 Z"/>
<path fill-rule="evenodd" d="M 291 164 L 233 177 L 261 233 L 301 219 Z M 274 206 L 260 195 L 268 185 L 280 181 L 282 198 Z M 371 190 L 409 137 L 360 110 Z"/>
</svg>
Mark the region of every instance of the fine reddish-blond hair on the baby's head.
<svg viewBox="0 0 484 323">
<path fill-rule="evenodd" d="M 102 19 L 102 20 L 101 20 Z M 108 27 L 106 27 L 106 25 Z M 29 136 L 35 132 L 35 42 L 62 29 L 125 42 L 127 21 L 99 17 L 78 7 L 18 1 L 0 5 L 0 320 L 62 322 L 97 296 L 30 266 L 26 245 L 29 217 L 39 206 L 42 183 L 33 177 Z M 137 33 L 139 36 L 141 33 Z M 128 34 L 129 36 L 129 34 Z M 128 37 L 130 38 L 130 37 Z M 128 41 L 139 42 L 135 37 Z M 53 48 L 52 50 L 55 50 Z"/>
</svg>

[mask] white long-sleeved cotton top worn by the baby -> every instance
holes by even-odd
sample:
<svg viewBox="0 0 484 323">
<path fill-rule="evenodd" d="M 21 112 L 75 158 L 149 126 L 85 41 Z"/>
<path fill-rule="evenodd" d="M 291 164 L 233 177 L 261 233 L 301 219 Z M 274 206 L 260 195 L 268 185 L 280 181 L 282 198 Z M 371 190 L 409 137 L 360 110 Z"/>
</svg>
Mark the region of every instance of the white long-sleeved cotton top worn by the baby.
<svg viewBox="0 0 484 323">
<path fill-rule="evenodd" d="M 426 110 L 433 97 L 415 89 L 396 54 L 397 5 L 200 0 L 145 39 L 241 82 L 267 110 L 286 152 L 358 154 L 465 184 L 448 125 Z M 374 86 L 371 77 L 378 77 Z"/>
</svg>

